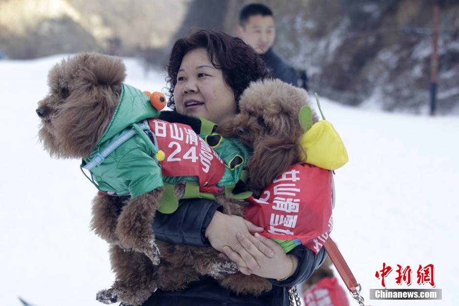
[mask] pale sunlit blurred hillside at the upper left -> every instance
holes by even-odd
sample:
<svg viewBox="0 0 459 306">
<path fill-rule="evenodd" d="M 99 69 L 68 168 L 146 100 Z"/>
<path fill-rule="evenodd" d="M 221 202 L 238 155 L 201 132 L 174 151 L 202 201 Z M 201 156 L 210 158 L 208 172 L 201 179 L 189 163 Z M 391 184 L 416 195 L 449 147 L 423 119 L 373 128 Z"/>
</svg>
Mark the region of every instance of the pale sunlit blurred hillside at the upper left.
<svg viewBox="0 0 459 306">
<path fill-rule="evenodd" d="M 0 0 L 0 50 L 9 58 L 26 59 L 166 48 L 186 9 L 186 0 Z M 109 41 L 115 39 L 120 44 L 110 50 Z"/>
</svg>

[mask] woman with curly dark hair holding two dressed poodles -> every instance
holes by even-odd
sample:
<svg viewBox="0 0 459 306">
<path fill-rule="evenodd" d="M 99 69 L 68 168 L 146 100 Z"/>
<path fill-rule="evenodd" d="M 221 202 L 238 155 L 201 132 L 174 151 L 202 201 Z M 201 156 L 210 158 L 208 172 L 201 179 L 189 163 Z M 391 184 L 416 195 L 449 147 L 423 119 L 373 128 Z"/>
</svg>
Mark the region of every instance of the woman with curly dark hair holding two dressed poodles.
<svg viewBox="0 0 459 306">
<path fill-rule="evenodd" d="M 223 32 L 202 30 L 173 46 L 168 71 L 169 107 L 216 124 L 234 116 L 238 101 L 251 81 L 268 77 L 256 52 L 242 40 Z M 237 296 L 211 277 L 178 292 L 157 290 L 143 304 L 158 305 L 289 305 L 287 287 L 306 280 L 325 259 L 300 245 L 288 255 L 282 247 L 258 234 L 243 218 L 222 214 L 219 205 L 203 199 L 182 200 L 176 212 L 157 214 L 157 239 L 193 246 L 209 246 L 237 263 L 239 270 L 270 279 L 273 288 L 258 297 Z"/>
</svg>

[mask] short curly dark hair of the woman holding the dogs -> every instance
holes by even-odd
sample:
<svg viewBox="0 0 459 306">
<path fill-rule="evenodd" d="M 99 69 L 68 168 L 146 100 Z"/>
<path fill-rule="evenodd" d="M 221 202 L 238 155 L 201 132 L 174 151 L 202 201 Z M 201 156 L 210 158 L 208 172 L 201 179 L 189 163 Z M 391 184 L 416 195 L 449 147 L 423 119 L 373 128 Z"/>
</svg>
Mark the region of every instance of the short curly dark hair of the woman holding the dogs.
<svg viewBox="0 0 459 306">
<path fill-rule="evenodd" d="M 236 103 L 250 82 L 270 77 L 261 57 L 241 39 L 222 31 L 199 30 L 176 41 L 170 52 L 166 81 L 167 106 L 171 109 L 175 109 L 174 88 L 182 59 L 188 51 L 196 48 L 206 48 L 210 63 L 223 70 L 223 78 L 233 90 Z"/>
</svg>

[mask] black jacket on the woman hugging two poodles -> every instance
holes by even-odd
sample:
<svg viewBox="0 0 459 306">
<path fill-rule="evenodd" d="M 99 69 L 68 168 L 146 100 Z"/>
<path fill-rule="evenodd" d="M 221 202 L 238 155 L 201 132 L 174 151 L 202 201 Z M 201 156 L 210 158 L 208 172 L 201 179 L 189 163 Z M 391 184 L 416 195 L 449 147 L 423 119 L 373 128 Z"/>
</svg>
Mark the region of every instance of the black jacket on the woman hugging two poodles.
<svg viewBox="0 0 459 306">
<path fill-rule="evenodd" d="M 173 214 L 157 213 L 153 230 L 159 240 L 193 246 L 209 246 L 205 237 L 206 229 L 219 205 L 203 199 L 181 200 Z M 299 245 L 291 252 L 299 258 L 299 264 L 289 279 L 278 282 L 270 280 L 273 289 L 258 297 L 239 295 L 220 286 L 211 277 L 202 277 L 188 288 L 176 292 L 157 290 L 142 306 L 289 306 L 287 286 L 299 284 L 311 276 L 313 271 L 325 260 L 322 249 L 315 255 L 310 249 Z"/>
</svg>

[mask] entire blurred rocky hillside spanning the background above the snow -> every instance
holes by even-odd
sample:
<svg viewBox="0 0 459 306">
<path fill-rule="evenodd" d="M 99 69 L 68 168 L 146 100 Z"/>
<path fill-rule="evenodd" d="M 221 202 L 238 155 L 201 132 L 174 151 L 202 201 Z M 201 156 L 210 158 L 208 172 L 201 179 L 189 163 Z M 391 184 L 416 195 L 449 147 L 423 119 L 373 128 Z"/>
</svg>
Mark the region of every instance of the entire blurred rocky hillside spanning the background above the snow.
<svg viewBox="0 0 459 306">
<path fill-rule="evenodd" d="M 238 12 L 249 2 L 0 0 L 0 51 L 35 58 L 95 50 L 142 55 L 163 67 L 171 42 L 190 28 L 235 35 Z M 428 112 L 436 0 L 259 2 L 275 13 L 274 48 L 308 71 L 311 91 L 348 105 Z M 438 113 L 457 114 L 459 0 L 438 2 Z"/>
</svg>

